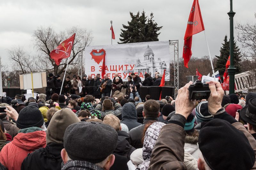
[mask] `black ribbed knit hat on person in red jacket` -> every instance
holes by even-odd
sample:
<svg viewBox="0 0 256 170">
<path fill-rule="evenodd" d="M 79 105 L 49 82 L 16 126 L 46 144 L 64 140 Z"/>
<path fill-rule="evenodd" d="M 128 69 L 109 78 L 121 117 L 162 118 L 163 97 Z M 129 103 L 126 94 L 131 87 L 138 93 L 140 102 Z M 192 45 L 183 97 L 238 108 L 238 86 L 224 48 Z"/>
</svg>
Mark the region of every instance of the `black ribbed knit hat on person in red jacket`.
<svg viewBox="0 0 256 170">
<path fill-rule="evenodd" d="M 44 118 L 38 108 L 35 106 L 26 106 L 20 110 L 16 125 L 20 129 L 29 127 L 41 127 L 44 124 Z"/>
</svg>

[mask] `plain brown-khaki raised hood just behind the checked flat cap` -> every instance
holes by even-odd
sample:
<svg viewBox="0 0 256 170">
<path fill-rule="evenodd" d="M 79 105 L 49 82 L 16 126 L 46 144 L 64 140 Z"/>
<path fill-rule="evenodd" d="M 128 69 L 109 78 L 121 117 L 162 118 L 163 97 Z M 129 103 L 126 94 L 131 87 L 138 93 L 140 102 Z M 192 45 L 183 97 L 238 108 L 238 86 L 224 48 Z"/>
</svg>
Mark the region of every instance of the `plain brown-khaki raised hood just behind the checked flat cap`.
<svg viewBox="0 0 256 170">
<path fill-rule="evenodd" d="M 67 127 L 77 122 L 80 122 L 80 120 L 68 108 L 63 108 L 54 113 L 47 127 L 46 144 L 48 145 L 51 142 L 63 144 L 63 137 Z"/>
</svg>

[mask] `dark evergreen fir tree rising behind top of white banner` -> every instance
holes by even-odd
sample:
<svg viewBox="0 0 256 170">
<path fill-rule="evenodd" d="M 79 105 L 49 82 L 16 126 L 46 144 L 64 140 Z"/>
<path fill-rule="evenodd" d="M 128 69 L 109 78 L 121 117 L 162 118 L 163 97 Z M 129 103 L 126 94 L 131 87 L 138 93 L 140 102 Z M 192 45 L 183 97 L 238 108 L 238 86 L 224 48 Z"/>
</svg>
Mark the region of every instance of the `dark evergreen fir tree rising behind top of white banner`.
<svg viewBox="0 0 256 170">
<path fill-rule="evenodd" d="M 128 25 L 124 25 L 124 29 L 121 29 L 120 41 L 118 44 L 125 43 L 137 43 L 158 41 L 158 31 L 162 26 L 158 27 L 155 20 L 153 20 L 153 13 L 150 14 L 150 18 L 145 16 L 145 11 L 140 15 L 140 11 L 136 15 L 130 12 L 131 21 L 128 21 Z"/>
</svg>

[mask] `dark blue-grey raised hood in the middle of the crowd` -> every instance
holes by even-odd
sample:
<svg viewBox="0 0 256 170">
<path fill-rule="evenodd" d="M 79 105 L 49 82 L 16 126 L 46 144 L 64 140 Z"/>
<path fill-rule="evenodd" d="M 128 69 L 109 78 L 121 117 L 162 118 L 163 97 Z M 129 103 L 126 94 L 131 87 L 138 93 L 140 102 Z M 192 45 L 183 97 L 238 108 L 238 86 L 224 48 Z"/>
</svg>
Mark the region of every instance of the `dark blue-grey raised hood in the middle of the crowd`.
<svg viewBox="0 0 256 170">
<path fill-rule="evenodd" d="M 138 120 L 137 111 L 133 103 L 125 103 L 122 110 L 122 120 Z"/>
</svg>

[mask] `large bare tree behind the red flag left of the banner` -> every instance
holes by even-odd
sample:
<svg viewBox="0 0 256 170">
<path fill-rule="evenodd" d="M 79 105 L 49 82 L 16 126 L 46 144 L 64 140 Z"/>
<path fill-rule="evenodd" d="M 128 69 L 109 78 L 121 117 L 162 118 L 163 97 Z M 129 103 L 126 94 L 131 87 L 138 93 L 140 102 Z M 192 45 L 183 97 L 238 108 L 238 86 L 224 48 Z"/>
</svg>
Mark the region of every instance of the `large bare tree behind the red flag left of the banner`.
<svg viewBox="0 0 256 170">
<path fill-rule="evenodd" d="M 38 50 L 39 55 L 36 61 L 37 67 L 46 72 L 54 72 L 54 74 L 61 74 L 67 66 L 67 59 L 62 60 L 59 66 L 51 59 L 50 53 L 62 41 L 68 39 L 72 34 L 76 33 L 72 52 L 68 65 L 74 66 L 78 64 L 77 55 L 79 53 L 78 47 L 89 46 L 92 42 L 92 32 L 79 27 L 72 27 L 65 32 L 56 33 L 52 27 L 40 27 L 33 34 L 34 46 Z"/>
</svg>

